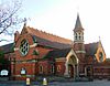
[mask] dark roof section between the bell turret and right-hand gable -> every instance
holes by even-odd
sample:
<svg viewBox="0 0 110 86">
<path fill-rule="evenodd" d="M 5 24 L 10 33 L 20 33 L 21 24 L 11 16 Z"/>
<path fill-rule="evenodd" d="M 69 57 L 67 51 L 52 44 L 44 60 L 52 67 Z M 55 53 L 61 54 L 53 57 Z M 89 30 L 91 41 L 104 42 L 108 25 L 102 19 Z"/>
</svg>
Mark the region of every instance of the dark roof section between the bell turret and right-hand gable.
<svg viewBox="0 0 110 86">
<path fill-rule="evenodd" d="M 85 44 L 85 50 L 87 56 L 95 55 L 98 50 L 98 42 Z"/>
</svg>

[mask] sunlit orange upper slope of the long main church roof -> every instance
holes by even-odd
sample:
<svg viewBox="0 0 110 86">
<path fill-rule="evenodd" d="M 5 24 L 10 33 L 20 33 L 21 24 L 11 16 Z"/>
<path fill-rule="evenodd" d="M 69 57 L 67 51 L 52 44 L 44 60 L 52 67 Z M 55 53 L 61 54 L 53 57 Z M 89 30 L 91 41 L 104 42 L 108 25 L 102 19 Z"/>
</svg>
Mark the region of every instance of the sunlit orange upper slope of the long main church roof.
<svg viewBox="0 0 110 86">
<path fill-rule="evenodd" d="M 35 35 L 37 37 L 42 37 L 42 39 L 45 39 L 45 40 L 48 40 L 52 42 L 58 42 L 58 43 L 63 43 L 63 44 L 72 44 L 73 43 L 72 40 L 64 39 L 64 37 L 61 37 L 61 36 L 44 32 L 44 31 L 40 31 L 37 29 L 33 29 L 30 26 L 26 26 L 26 29 L 28 29 L 28 33 Z"/>
</svg>

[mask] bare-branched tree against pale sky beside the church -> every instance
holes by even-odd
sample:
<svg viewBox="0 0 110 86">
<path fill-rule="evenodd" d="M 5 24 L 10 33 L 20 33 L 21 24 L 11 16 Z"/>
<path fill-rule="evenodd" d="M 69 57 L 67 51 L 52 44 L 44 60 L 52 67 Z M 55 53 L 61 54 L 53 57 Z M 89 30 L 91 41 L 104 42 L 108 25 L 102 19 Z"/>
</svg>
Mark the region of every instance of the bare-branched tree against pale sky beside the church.
<svg viewBox="0 0 110 86">
<path fill-rule="evenodd" d="M 9 2 L 0 4 L 0 35 L 12 35 L 14 31 L 12 26 L 23 22 L 16 14 L 21 6 L 22 2 L 20 0 L 9 0 Z M 0 39 L 0 42 L 1 41 L 6 40 Z"/>
</svg>

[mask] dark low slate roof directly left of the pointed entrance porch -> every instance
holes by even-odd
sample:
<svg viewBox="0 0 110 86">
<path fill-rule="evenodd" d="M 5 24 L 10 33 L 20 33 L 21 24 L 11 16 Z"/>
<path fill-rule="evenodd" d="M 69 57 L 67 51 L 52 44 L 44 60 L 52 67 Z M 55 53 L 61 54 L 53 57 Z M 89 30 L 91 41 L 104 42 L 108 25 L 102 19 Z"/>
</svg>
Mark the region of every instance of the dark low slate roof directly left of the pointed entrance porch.
<svg viewBox="0 0 110 86">
<path fill-rule="evenodd" d="M 58 57 L 66 57 L 67 54 L 70 52 L 72 49 L 65 50 L 54 50 L 46 54 L 44 58 L 58 58 Z"/>
</svg>

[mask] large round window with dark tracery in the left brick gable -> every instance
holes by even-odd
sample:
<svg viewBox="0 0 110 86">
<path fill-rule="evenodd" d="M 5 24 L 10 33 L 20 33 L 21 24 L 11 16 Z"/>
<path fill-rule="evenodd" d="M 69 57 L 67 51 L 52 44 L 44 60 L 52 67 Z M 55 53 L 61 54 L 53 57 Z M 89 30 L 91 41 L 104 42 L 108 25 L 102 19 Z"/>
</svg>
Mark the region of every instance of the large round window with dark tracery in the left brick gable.
<svg viewBox="0 0 110 86">
<path fill-rule="evenodd" d="M 26 40 L 23 40 L 23 41 L 21 42 L 20 52 L 21 52 L 21 54 L 22 54 L 23 56 L 28 54 L 28 52 L 29 52 L 29 43 L 28 43 Z"/>
</svg>

